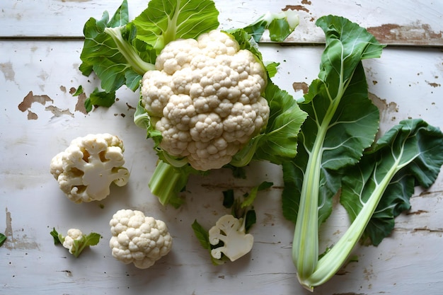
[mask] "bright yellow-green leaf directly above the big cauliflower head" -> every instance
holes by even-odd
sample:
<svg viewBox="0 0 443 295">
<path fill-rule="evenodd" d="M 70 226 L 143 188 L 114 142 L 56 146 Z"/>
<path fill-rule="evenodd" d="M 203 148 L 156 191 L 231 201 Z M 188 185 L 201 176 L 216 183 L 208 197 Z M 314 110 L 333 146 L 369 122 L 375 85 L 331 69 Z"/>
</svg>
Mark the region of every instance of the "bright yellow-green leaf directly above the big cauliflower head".
<svg viewBox="0 0 443 295">
<path fill-rule="evenodd" d="M 133 23 L 139 40 L 159 51 L 178 38 L 196 38 L 218 28 L 218 16 L 211 0 L 151 0 Z"/>
</svg>

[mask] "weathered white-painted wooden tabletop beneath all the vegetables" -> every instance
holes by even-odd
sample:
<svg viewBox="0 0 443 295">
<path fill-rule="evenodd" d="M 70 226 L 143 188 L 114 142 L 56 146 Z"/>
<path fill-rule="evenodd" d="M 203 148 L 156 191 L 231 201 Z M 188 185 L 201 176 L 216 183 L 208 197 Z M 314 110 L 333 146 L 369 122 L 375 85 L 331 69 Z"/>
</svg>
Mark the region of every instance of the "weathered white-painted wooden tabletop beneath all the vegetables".
<svg viewBox="0 0 443 295">
<path fill-rule="evenodd" d="M 367 60 L 369 91 L 381 110 L 381 131 L 408 117 L 443 127 L 442 1 L 216 1 L 222 28 L 241 27 L 266 11 L 297 9 L 301 24 L 287 45 L 261 45 L 266 60 L 280 62 L 275 82 L 300 97 L 318 74 L 323 36 L 313 22 L 329 13 L 350 18 L 389 44 L 380 59 Z M 4 0 L 0 4 L 0 294 L 309 294 L 297 282 L 291 260 L 294 226 L 282 218 L 280 167 L 253 163 L 248 179 L 226 170 L 192 177 L 180 209 L 162 207 L 147 187 L 156 155 L 132 122 L 138 94 L 119 91 L 113 107 L 86 115 L 71 96 L 98 86 L 78 70 L 85 21 L 113 13 L 120 0 Z M 132 16 L 146 6 L 130 1 Z M 71 139 L 110 132 L 125 142 L 130 182 L 113 187 L 103 202 L 74 204 L 49 172 L 51 158 Z M 222 191 L 242 193 L 263 180 L 255 209 L 250 255 L 213 266 L 190 225 L 211 226 L 221 214 Z M 356 248 L 350 263 L 315 294 L 442 294 L 443 173 L 426 192 L 417 190 L 412 209 L 379 247 Z M 103 206 L 100 206 L 103 205 Z M 103 208 L 101 208 L 103 207 Z M 148 270 L 123 265 L 110 255 L 108 221 L 117 209 L 139 209 L 168 224 L 171 253 Z M 338 208 L 323 231 L 333 243 L 345 231 Z M 76 227 L 103 236 L 76 259 L 54 246 L 50 231 Z"/>
</svg>

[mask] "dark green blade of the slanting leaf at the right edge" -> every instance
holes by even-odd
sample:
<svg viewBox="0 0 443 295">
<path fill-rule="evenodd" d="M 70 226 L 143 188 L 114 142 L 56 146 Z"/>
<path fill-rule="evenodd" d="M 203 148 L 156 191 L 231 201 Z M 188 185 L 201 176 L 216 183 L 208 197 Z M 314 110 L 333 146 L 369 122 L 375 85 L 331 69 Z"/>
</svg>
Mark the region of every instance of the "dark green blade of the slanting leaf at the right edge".
<svg viewBox="0 0 443 295">
<path fill-rule="evenodd" d="M 410 209 L 415 186 L 430 187 L 442 165 L 443 134 L 423 120 L 401 121 L 381 137 L 343 178 L 340 202 L 352 221 L 367 203 L 378 203 L 363 241 L 379 245 L 389 236 L 395 217 Z"/>
</svg>

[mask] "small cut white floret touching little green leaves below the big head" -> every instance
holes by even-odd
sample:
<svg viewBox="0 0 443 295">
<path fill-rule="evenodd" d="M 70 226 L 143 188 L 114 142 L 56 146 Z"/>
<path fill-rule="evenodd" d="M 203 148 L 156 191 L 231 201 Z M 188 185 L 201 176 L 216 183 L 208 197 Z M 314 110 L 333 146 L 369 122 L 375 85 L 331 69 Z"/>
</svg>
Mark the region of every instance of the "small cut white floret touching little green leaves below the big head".
<svg viewBox="0 0 443 295">
<path fill-rule="evenodd" d="M 215 226 L 209 229 L 209 243 L 224 245 L 211 250 L 213 258 L 222 258 L 222 253 L 231 261 L 248 254 L 254 243 L 254 237 L 246 233 L 243 219 L 236 219 L 231 214 L 226 214 L 217 220 Z"/>
</svg>

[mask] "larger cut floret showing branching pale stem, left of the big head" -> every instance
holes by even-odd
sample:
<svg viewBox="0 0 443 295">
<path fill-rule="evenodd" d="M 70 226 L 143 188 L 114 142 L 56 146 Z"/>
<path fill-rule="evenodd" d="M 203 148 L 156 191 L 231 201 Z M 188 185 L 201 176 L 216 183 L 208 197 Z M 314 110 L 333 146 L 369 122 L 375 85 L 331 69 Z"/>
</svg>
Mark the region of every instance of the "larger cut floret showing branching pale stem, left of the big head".
<svg viewBox="0 0 443 295">
<path fill-rule="evenodd" d="M 111 134 L 88 134 L 71 141 L 52 158 L 50 172 L 60 189 L 75 203 L 105 199 L 110 185 L 127 184 L 123 142 Z"/>
</svg>

